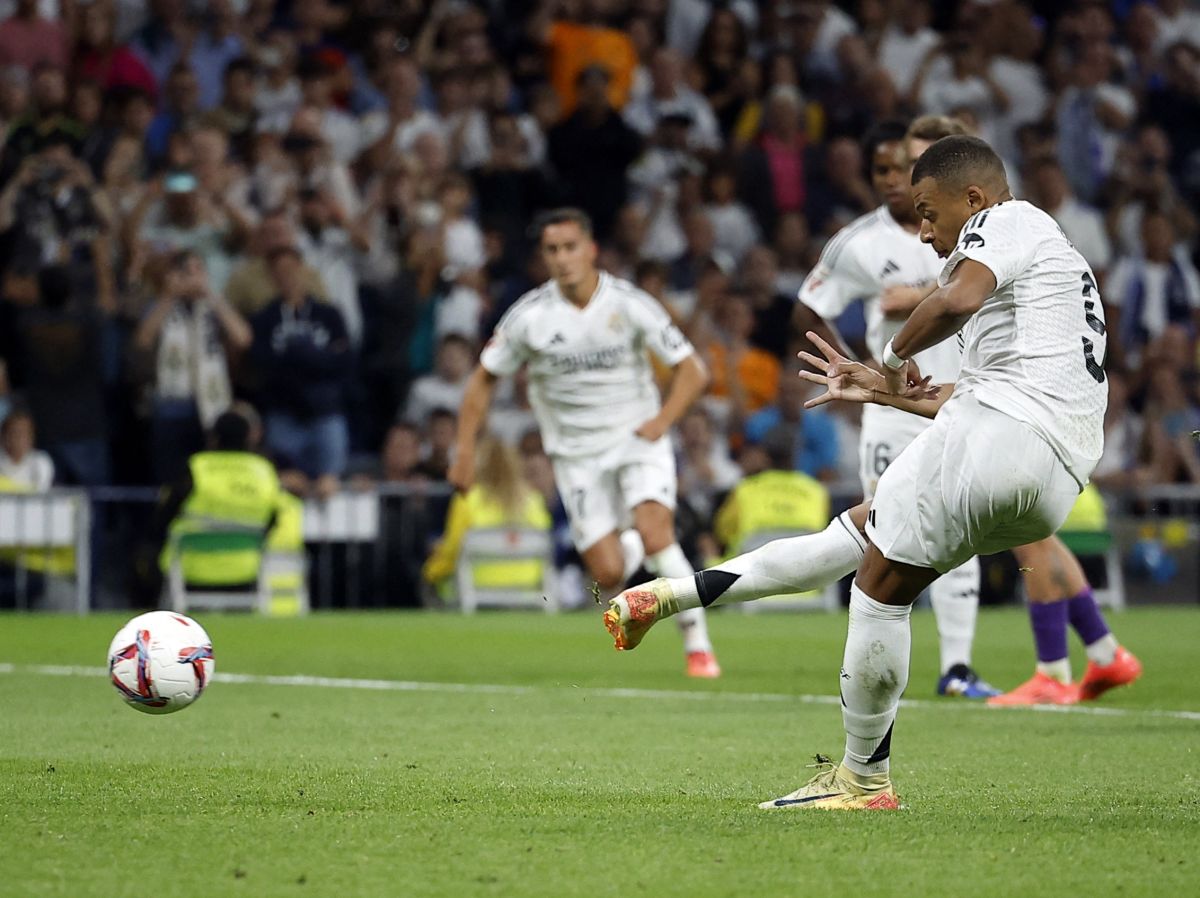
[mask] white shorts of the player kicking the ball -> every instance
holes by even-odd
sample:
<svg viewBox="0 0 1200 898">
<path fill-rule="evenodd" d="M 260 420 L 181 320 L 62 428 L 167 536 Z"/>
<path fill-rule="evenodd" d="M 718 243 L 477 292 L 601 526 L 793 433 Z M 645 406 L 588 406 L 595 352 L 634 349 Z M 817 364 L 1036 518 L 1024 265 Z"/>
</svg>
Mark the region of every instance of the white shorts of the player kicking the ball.
<svg viewBox="0 0 1200 898">
<path fill-rule="evenodd" d="M 1079 484 L 1028 425 L 952 399 L 880 478 L 866 535 L 886 558 L 944 574 L 1058 529 Z"/>
</svg>

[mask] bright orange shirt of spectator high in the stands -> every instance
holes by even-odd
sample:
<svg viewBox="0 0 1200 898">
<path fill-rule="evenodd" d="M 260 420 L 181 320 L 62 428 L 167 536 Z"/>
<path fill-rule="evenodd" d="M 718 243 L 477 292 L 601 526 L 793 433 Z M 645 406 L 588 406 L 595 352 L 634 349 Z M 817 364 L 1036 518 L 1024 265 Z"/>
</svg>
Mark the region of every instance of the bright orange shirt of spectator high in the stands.
<svg viewBox="0 0 1200 898">
<path fill-rule="evenodd" d="M 542 2 L 529 24 L 534 41 L 546 48 L 546 67 L 550 83 L 558 94 L 562 114 L 575 109 L 576 88 L 580 73 L 593 65 L 608 70 L 608 102 L 620 109 L 629 100 L 637 68 L 637 50 L 624 31 L 610 28 L 605 19 L 606 4 L 584 0 L 577 16 L 557 18 L 560 4 Z"/>
</svg>

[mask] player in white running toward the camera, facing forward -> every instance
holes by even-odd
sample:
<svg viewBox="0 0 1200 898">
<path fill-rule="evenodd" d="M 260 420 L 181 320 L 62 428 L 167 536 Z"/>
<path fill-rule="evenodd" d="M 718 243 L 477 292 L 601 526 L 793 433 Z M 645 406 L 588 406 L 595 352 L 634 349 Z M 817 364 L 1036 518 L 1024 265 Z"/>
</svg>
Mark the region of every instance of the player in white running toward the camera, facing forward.
<svg viewBox="0 0 1200 898">
<path fill-rule="evenodd" d="M 676 541 L 667 432 L 704 389 L 704 364 L 659 303 L 596 268 L 586 214 L 558 209 L 536 228 L 551 280 L 518 299 L 484 347 L 458 415 L 450 481 L 470 486 L 496 381 L 527 365 L 571 539 L 600 588 L 619 589 L 643 559 L 652 574 L 690 576 Z M 647 349 L 674 369 L 661 405 Z M 720 676 L 703 609 L 683 613 L 679 629 L 688 675 Z"/>
</svg>

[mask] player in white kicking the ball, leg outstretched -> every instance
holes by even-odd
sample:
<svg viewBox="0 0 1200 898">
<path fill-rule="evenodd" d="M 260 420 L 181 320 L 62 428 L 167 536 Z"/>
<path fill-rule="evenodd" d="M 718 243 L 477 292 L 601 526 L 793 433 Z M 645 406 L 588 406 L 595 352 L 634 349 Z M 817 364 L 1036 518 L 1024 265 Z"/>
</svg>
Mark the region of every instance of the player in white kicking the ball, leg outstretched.
<svg viewBox="0 0 1200 898">
<path fill-rule="evenodd" d="M 857 387 L 857 401 L 941 413 L 883 473 L 870 505 L 835 520 L 839 540 L 828 537 L 834 525 L 815 534 L 826 551 L 809 553 L 806 575 L 845 551 L 839 543 L 863 552 L 840 678 L 846 750 L 841 764 L 762 807 L 899 807 L 889 760 L 912 601 L 972 555 L 1052 534 L 1103 447 L 1105 324 L 1087 263 L 1049 215 L 1013 199 L 1003 163 L 978 138 L 936 142 L 911 182 L 922 240 L 947 259 L 940 286 L 884 346 L 884 376 L 840 360 L 824 376 L 840 391 L 842 370 L 853 370 L 875 378 Z M 960 330 L 958 381 L 930 388 L 911 357 Z M 678 592 L 680 581 L 629 591 L 610 603 L 605 624 L 630 647 L 664 610 L 710 605 L 744 575 L 779 576 L 778 564 L 755 570 L 754 556 L 684 580 Z"/>
</svg>

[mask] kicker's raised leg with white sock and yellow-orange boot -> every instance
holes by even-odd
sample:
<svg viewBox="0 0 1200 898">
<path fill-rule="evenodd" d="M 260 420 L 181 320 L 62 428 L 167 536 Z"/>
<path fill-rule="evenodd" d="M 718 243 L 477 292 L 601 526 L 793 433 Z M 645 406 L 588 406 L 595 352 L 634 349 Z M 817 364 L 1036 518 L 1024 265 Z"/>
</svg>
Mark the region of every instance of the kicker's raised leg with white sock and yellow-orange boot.
<svg viewBox="0 0 1200 898">
<path fill-rule="evenodd" d="M 820 589 L 858 567 L 870 505 L 838 515 L 820 533 L 776 539 L 686 576 L 626 589 L 610 603 L 605 625 L 617 648 L 634 648 L 655 622 L 689 609 L 731 605 Z"/>
</svg>

